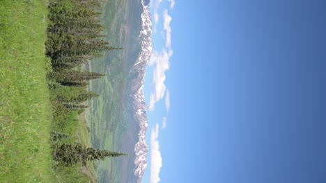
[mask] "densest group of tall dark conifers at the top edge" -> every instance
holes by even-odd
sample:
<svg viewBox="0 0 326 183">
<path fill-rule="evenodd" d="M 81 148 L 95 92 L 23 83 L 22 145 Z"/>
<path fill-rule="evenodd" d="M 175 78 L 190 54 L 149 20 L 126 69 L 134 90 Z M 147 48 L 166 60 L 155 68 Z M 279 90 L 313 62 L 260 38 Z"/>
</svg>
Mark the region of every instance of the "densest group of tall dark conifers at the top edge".
<svg viewBox="0 0 326 183">
<path fill-rule="evenodd" d="M 102 40 L 98 0 L 56 0 L 49 2 L 47 55 L 52 67 L 73 68 L 103 51 L 121 49 Z M 92 59 L 92 58 L 91 58 Z"/>
</svg>

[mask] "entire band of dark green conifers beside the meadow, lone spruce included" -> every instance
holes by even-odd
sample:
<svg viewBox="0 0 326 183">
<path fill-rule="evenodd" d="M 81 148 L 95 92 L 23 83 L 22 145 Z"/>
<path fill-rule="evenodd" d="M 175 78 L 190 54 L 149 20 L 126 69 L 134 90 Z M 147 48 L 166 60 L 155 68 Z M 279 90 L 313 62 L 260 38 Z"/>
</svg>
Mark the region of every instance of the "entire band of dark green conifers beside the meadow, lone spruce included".
<svg viewBox="0 0 326 183">
<path fill-rule="evenodd" d="M 60 141 L 74 134 L 79 121 L 77 114 L 84 112 L 84 102 L 98 96 L 88 91 L 89 80 L 104 76 L 102 73 L 80 71 L 78 66 L 90 62 L 104 51 L 121 49 L 104 41 L 100 24 L 100 0 L 50 0 L 47 28 L 46 55 L 51 59 L 47 74 L 54 110 L 54 159 L 65 166 L 104 157 L 126 155 L 109 150 L 82 147 L 79 143 Z M 70 134 L 66 134 L 70 133 Z M 58 142 L 59 141 L 59 142 Z"/>
</svg>

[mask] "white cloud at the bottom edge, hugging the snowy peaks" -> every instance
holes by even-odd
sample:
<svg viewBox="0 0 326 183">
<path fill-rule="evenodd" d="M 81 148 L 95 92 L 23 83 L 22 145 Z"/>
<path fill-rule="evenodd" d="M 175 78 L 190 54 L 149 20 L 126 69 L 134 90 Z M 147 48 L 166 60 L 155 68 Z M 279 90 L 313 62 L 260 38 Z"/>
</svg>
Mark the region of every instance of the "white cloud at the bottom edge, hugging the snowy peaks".
<svg viewBox="0 0 326 183">
<path fill-rule="evenodd" d="M 159 124 L 156 123 L 150 134 L 150 183 L 160 182 L 160 171 L 162 167 L 162 156 L 160 153 L 160 143 L 157 140 Z"/>
</svg>

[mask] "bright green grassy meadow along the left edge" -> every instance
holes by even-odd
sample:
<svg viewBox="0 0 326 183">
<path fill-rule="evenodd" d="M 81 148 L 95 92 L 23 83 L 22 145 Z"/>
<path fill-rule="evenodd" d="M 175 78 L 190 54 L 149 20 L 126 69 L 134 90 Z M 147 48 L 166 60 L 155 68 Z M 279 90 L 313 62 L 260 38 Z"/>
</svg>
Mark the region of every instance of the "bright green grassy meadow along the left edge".
<svg viewBox="0 0 326 183">
<path fill-rule="evenodd" d="M 0 1 L 0 182 L 55 182 L 46 16 L 42 0 Z"/>
</svg>

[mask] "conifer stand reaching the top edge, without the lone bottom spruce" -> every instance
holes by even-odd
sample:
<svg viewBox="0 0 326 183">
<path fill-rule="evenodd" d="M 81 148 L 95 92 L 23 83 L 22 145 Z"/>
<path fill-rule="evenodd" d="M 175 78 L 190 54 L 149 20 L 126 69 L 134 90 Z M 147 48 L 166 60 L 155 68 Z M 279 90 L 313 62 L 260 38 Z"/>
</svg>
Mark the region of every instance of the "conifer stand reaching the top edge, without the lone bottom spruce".
<svg viewBox="0 0 326 183">
<path fill-rule="evenodd" d="M 104 74 L 79 71 L 76 67 L 100 56 L 103 51 L 120 49 L 102 39 L 100 5 L 100 0 L 49 1 L 50 24 L 45 48 L 52 66 L 48 78 L 56 82 L 49 85 L 54 90 L 55 120 L 70 111 L 83 112 L 88 106 L 81 103 L 98 96 L 85 86 L 88 80 Z"/>
</svg>

